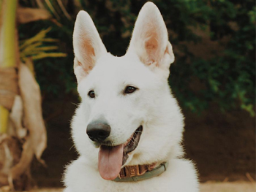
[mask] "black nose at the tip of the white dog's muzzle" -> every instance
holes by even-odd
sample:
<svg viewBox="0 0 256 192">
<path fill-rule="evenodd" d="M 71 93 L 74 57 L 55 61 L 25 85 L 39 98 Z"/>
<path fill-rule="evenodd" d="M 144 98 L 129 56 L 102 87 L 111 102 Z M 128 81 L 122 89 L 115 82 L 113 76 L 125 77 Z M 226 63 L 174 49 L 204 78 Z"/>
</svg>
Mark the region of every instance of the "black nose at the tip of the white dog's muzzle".
<svg viewBox="0 0 256 192">
<path fill-rule="evenodd" d="M 110 126 L 108 123 L 95 121 L 89 123 L 86 133 L 92 141 L 103 142 L 110 135 Z"/>
</svg>

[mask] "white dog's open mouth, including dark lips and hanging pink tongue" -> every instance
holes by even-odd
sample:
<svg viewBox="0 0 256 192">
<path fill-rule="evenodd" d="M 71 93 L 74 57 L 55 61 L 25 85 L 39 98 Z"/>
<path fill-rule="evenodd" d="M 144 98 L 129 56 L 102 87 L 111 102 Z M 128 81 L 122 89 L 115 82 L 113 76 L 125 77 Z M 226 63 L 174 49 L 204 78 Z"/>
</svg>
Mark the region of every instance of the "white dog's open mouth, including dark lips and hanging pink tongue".
<svg viewBox="0 0 256 192">
<path fill-rule="evenodd" d="M 143 126 L 139 126 L 132 136 L 121 145 L 99 147 L 98 169 L 99 174 L 105 180 L 114 180 L 118 176 L 121 166 L 129 158 L 128 153 L 138 147 Z"/>
</svg>

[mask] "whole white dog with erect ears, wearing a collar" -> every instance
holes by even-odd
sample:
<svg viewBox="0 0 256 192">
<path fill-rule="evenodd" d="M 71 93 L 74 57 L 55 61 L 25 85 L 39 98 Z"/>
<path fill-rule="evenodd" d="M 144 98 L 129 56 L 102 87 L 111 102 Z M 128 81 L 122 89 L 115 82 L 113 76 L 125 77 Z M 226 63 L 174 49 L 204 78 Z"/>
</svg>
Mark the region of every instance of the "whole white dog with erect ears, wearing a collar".
<svg viewBox="0 0 256 192">
<path fill-rule="evenodd" d="M 196 192 L 182 157 L 183 116 L 167 82 L 174 61 L 159 9 L 140 10 L 127 53 L 107 52 L 87 12 L 73 35 L 78 92 L 72 120 L 80 157 L 67 166 L 65 192 Z"/>
</svg>

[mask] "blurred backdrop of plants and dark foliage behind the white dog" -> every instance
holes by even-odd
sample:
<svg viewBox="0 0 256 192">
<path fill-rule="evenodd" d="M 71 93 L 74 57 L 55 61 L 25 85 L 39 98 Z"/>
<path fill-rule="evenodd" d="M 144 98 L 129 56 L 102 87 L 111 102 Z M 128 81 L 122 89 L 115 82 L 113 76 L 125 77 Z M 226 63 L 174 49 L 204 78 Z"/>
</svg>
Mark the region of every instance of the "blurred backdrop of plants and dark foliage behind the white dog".
<svg viewBox="0 0 256 192">
<path fill-rule="evenodd" d="M 202 183 L 254 182 L 255 1 L 153 2 L 162 12 L 176 55 L 169 82 L 186 117 L 186 157 L 195 161 Z M 119 56 L 126 52 L 144 3 L 0 0 L 0 186 L 61 187 L 64 166 L 77 158 L 69 128 L 79 104 L 72 69 L 75 16 L 80 9 L 89 12 L 107 50 Z M 34 84 L 26 89 L 30 82 Z M 41 93 L 33 96 L 37 83 Z M 12 99 L 6 106 L 8 91 Z M 20 110 L 15 110 L 17 95 Z M 37 106 L 35 112 L 26 107 L 29 101 Z M 34 121 L 29 121 L 31 114 L 37 114 Z M 26 146 L 33 146 L 29 161 L 23 156 Z M 21 160 L 26 166 L 20 171 L 16 165 Z"/>
</svg>

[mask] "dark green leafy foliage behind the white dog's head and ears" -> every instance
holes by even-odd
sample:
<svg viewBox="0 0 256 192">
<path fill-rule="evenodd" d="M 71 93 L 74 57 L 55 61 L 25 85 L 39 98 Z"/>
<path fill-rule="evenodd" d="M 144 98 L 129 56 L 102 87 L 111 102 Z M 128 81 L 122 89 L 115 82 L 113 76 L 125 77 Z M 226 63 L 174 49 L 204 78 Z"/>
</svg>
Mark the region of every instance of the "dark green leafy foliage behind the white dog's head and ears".
<svg viewBox="0 0 256 192">
<path fill-rule="evenodd" d="M 27 7 L 37 6 L 34 1 L 20 2 Z M 51 27 L 48 37 L 59 39 L 59 51 L 67 53 L 67 58 L 36 61 L 37 80 L 42 91 L 61 96 L 62 90 L 66 93 L 75 90 L 72 29 L 79 9 L 89 12 L 107 50 L 113 55 L 124 55 L 144 3 L 145 0 L 63 1 L 66 13 L 56 3 L 50 8 L 45 4 L 50 12 L 54 9 L 57 13 L 53 14 L 55 20 L 38 21 L 19 28 L 23 39 Z M 255 115 L 255 2 L 156 0 L 154 3 L 162 12 L 176 53 L 169 80 L 181 106 L 200 112 L 209 104 L 217 104 L 222 111 L 241 107 Z M 193 55 L 191 46 L 188 47 L 188 43 L 202 43 L 202 37 L 196 33 L 199 29 L 205 30 L 212 42 L 219 42 L 219 50 L 208 57 Z"/>
</svg>

